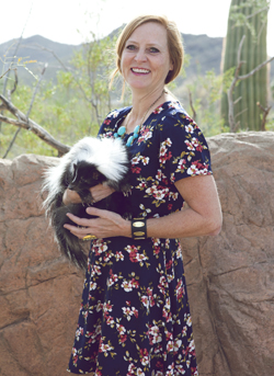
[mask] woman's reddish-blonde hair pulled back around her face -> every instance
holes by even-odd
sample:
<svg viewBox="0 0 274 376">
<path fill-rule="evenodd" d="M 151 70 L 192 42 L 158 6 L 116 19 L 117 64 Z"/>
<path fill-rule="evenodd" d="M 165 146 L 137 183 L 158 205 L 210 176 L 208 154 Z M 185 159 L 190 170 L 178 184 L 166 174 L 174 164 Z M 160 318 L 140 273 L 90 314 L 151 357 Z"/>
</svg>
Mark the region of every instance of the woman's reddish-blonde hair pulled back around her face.
<svg viewBox="0 0 274 376">
<path fill-rule="evenodd" d="M 117 42 L 116 42 L 116 69 L 111 75 L 110 88 L 113 84 L 114 78 L 116 75 L 122 73 L 121 70 L 121 59 L 122 54 L 125 48 L 126 41 L 133 34 L 133 32 L 147 22 L 157 22 L 160 23 L 167 30 L 168 36 L 168 48 L 170 59 L 173 64 L 173 70 L 170 70 L 164 83 L 173 81 L 179 75 L 184 61 L 184 48 L 182 44 L 182 36 L 179 32 L 176 24 L 173 21 L 169 21 L 165 15 L 139 15 L 132 20 L 122 31 Z M 123 88 L 124 92 L 124 88 Z M 123 94 L 122 94 L 123 95 Z"/>
</svg>

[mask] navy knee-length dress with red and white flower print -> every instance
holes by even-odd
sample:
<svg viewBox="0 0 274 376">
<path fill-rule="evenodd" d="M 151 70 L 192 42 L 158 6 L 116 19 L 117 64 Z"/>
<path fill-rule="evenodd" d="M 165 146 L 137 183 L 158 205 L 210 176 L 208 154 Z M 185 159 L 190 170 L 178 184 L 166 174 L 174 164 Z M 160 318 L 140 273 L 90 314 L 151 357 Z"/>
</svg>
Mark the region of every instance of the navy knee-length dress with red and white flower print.
<svg viewBox="0 0 274 376">
<path fill-rule="evenodd" d="M 110 113 L 100 137 L 114 137 L 129 111 Z M 181 210 L 184 201 L 174 182 L 212 173 L 206 140 L 179 102 L 153 111 L 130 151 L 136 217 Z M 179 240 L 115 237 L 92 242 L 68 371 L 198 375 Z"/>
</svg>

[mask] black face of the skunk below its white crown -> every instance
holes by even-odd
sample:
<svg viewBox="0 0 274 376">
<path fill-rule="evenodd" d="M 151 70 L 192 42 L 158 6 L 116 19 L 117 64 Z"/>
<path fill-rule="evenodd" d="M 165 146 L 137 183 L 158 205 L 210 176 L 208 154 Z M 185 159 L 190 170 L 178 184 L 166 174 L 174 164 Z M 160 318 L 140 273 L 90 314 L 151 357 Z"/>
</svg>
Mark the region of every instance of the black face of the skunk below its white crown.
<svg viewBox="0 0 274 376">
<path fill-rule="evenodd" d="M 96 170 L 94 164 L 80 161 L 73 163 L 73 172 L 71 180 L 68 182 L 68 189 L 71 191 L 84 190 L 102 184 L 104 181 L 106 181 L 105 176 Z"/>
</svg>

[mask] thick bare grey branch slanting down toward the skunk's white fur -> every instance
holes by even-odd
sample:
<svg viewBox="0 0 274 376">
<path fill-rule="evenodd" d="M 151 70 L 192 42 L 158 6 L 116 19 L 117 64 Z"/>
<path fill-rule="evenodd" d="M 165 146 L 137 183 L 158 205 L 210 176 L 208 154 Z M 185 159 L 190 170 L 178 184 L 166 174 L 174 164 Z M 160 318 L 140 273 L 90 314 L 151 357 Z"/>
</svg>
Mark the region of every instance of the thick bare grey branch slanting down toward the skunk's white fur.
<svg viewBox="0 0 274 376">
<path fill-rule="evenodd" d="M 70 147 L 64 145 L 56 140 L 46 129 L 44 129 L 41 125 L 27 118 L 25 114 L 23 114 L 18 107 L 13 105 L 10 101 L 8 101 L 3 95 L 0 94 L 0 100 L 2 101 L 1 107 L 9 111 L 12 115 L 16 117 L 9 118 L 3 115 L 0 115 L 0 122 L 4 122 L 8 124 L 15 125 L 18 127 L 31 130 L 37 137 L 39 137 L 43 141 L 52 146 L 53 148 L 57 149 L 60 155 L 64 155 L 69 151 Z"/>
</svg>

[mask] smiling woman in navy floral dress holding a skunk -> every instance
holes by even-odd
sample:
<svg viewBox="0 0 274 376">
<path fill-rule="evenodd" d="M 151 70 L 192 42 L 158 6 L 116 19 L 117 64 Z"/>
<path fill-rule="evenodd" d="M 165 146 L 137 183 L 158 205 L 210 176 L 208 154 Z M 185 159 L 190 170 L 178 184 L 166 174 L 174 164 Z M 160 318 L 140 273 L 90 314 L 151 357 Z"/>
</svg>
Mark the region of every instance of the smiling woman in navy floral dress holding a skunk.
<svg viewBox="0 0 274 376">
<path fill-rule="evenodd" d="M 129 197 L 138 219 L 92 207 L 88 213 L 99 218 L 69 215 L 77 226 L 66 227 L 75 236 L 94 239 L 69 371 L 196 376 L 178 239 L 220 230 L 209 151 L 197 125 L 164 90 L 183 62 L 176 26 L 163 16 L 136 18 L 116 49 L 116 72 L 132 90 L 133 106 L 109 114 L 99 135 L 128 144 Z M 95 201 L 111 194 L 100 185 L 91 192 Z M 65 203 L 77 201 L 66 191 Z"/>
</svg>

